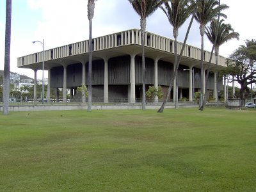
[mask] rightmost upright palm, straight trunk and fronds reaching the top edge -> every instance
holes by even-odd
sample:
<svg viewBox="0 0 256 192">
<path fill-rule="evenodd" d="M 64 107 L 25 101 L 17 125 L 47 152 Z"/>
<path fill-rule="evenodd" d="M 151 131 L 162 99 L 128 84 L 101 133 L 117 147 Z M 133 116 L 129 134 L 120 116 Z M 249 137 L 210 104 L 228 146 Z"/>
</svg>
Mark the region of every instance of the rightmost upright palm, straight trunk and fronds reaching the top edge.
<svg viewBox="0 0 256 192">
<path fill-rule="evenodd" d="M 204 97 L 204 84 L 203 84 L 203 77 L 204 74 L 204 35 L 205 35 L 205 28 L 206 25 L 211 22 L 212 19 L 218 17 L 220 15 L 221 17 L 227 18 L 227 16 L 223 13 L 221 13 L 222 10 L 225 10 L 228 8 L 226 4 L 220 4 L 218 0 L 199 0 L 199 8 L 198 12 L 196 12 L 195 19 L 200 24 L 200 35 L 201 35 L 201 92 L 200 92 L 200 100 L 201 104 L 203 103 L 203 97 Z M 219 12 L 220 10 L 220 12 Z M 220 14 L 219 14 L 220 13 Z"/>
</svg>

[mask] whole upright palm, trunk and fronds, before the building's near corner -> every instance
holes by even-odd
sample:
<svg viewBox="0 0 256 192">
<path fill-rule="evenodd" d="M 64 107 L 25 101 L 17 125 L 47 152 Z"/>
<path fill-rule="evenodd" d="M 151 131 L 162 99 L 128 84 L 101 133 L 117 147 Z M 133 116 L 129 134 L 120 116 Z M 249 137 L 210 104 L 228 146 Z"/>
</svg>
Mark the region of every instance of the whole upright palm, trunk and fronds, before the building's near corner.
<svg viewBox="0 0 256 192">
<path fill-rule="evenodd" d="M 142 44 L 142 109 L 146 109 L 146 89 L 145 89 L 145 31 L 147 17 L 152 15 L 165 0 L 128 0 L 135 12 L 140 15 L 140 30 Z"/>
</svg>

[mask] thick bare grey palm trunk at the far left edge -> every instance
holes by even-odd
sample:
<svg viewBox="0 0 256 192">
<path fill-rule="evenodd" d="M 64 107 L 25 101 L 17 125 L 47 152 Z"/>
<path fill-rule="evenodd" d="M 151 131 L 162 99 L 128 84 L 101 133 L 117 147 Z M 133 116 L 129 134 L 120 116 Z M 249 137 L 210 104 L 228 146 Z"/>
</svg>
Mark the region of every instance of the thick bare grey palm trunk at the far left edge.
<svg viewBox="0 0 256 192">
<path fill-rule="evenodd" d="M 8 115 L 10 92 L 10 49 L 11 49 L 12 0 L 6 0 L 5 51 L 3 79 L 3 115 Z"/>
</svg>

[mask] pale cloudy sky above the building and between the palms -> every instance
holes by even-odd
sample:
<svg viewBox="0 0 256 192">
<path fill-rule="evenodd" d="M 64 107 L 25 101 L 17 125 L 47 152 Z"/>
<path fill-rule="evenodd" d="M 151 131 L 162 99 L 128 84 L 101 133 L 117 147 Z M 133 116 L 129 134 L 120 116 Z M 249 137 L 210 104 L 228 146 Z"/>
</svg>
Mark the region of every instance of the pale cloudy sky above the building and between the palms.
<svg viewBox="0 0 256 192">
<path fill-rule="evenodd" d="M 87 0 L 12 0 L 12 40 L 10 70 L 34 77 L 31 69 L 17 68 L 17 58 L 42 51 L 42 45 L 33 44 L 44 39 L 44 49 L 52 49 L 74 42 L 88 40 L 89 24 Z M 225 23 L 240 34 L 239 40 L 230 40 L 220 47 L 220 55 L 228 57 L 244 40 L 256 39 L 256 26 L 252 24 L 256 1 L 221 0 L 227 4 Z M 4 68 L 4 33 L 6 1 L 0 1 L 0 70 Z M 179 29 L 178 40 L 183 42 L 189 20 Z M 140 17 L 127 0 L 98 0 L 93 17 L 93 38 L 127 29 L 140 29 Z M 147 31 L 173 38 L 172 26 L 162 10 L 147 18 Z M 187 44 L 200 47 L 199 24 L 194 21 Z M 205 36 L 205 50 L 211 43 Z M 47 77 L 47 72 L 44 73 Z M 37 77 L 42 77 L 38 70 Z"/>
</svg>

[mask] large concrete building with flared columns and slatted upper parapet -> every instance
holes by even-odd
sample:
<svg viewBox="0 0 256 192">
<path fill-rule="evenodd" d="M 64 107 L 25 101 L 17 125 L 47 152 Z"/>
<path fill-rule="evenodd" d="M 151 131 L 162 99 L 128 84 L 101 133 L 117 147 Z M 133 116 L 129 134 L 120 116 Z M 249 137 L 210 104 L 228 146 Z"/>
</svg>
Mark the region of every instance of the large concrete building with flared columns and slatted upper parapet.
<svg viewBox="0 0 256 192">
<path fill-rule="evenodd" d="M 44 68 L 48 70 L 49 88 L 63 88 L 63 102 L 67 101 L 67 89 L 74 97 L 77 86 L 88 82 L 88 46 L 89 40 L 44 51 Z M 92 101 L 137 102 L 142 98 L 141 80 L 141 33 L 130 29 L 111 35 L 93 38 L 92 62 Z M 145 77 L 146 91 L 149 85 L 161 86 L 166 93 L 173 74 L 174 40 L 147 32 L 145 35 Z M 178 42 L 180 52 L 182 43 Z M 209 63 L 211 52 L 204 51 L 204 68 Z M 219 56 L 218 66 L 212 57 L 211 74 L 208 79 L 207 97 L 216 98 L 217 90 L 223 89 L 222 79 L 217 80 L 216 69 L 226 67 L 226 58 Z M 42 52 L 29 54 L 17 59 L 18 67 L 31 68 L 35 72 L 42 69 Z M 186 70 L 184 70 L 186 69 Z M 194 72 L 193 72 L 194 71 Z M 213 72 L 215 71 L 215 72 Z M 180 61 L 179 98 L 193 101 L 193 77 L 195 92 L 201 88 L 200 49 L 186 45 Z M 203 77 L 205 82 L 205 77 Z M 174 89 L 175 90 L 175 89 Z M 58 95 L 58 91 L 56 92 Z M 48 97 L 50 98 L 50 97 Z M 175 92 L 169 98 L 172 101 Z M 157 102 L 158 99 L 155 99 Z"/>
</svg>

